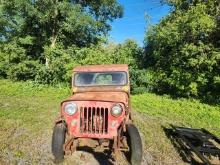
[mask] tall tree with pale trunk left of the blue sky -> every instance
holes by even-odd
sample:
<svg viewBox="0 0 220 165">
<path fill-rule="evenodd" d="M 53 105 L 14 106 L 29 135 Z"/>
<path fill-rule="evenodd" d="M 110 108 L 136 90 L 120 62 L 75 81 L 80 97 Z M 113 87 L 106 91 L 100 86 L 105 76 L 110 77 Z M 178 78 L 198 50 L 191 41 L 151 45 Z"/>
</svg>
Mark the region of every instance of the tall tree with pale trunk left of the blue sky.
<svg viewBox="0 0 220 165">
<path fill-rule="evenodd" d="M 16 42 L 28 58 L 49 66 L 57 44 L 96 44 L 121 16 L 116 0 L 2 0 L 0 42 Z"/>
</svg>

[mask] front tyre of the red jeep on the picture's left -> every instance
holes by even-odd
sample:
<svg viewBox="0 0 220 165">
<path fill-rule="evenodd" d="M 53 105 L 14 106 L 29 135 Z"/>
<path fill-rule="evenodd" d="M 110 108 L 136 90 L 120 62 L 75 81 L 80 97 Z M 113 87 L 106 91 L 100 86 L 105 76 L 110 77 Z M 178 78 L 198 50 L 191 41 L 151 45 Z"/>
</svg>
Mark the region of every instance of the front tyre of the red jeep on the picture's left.
<svg viewBox="0 0 220 165">
<path fill-rule="evenodd" d="M 60 163 L 64 159 L 63 144 L 65 143 L 66 127 L 63 123 L 56 124 L 52 136 L 52 153 L 55 162 Z"/>
</svg>

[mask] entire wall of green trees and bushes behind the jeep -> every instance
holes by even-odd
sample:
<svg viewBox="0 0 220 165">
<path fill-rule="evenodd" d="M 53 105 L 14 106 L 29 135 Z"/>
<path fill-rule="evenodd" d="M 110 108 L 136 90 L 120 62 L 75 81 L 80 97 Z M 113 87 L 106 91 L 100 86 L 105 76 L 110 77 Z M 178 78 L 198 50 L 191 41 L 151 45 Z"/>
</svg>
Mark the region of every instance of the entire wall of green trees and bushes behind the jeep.
<svg viewBox="0 0 220 165">
<path fill-rule="evenodd" d="M 74 66 L 127 63 L 133 93 L 153 91 L 220 102 L 218 0 L 166 0 L 169 15 L 151 26 L 144 50 L 107 40 L 117 0 L 2 0 L 0 77 L 70 83 Z"/>
</svg>

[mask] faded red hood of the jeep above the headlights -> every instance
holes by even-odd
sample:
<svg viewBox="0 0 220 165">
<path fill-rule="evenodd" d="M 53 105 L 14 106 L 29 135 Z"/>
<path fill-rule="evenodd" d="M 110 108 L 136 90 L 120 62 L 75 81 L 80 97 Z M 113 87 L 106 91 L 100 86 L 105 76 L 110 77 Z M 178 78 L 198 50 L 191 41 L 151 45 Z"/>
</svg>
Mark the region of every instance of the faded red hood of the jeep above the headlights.
<svg viewBox="0 0 220 165">
<path fill-rule="evenodd" d="M 126 92 L 82 92 L 75 93 L 66 101 L 108 101 L 128 104 L 128 94 Z"/>
</svg>

